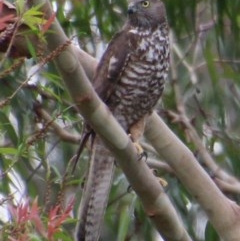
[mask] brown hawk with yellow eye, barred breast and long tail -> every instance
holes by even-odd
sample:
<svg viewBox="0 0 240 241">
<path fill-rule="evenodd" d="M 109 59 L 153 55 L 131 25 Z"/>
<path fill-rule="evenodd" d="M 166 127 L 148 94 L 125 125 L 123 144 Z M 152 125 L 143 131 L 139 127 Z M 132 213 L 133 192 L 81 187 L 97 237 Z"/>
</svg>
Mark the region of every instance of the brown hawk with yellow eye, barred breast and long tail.
<svg viewBox="0 0 240 241">
<path fill-rule="evenodd" d="M 169 68 L 168 24 L 160 0 L 131 0 L 128 20 L 100 60 L 93 80 L 96 92 L 132 139 L 136 126 L 159 100 Z M 114 158 L 95 139 L 84 198 L 80 205 L 78 241 L 96 241 L 107 205 Z M 136 163 L 137 165 L 137 163 Z"/>
</svg>

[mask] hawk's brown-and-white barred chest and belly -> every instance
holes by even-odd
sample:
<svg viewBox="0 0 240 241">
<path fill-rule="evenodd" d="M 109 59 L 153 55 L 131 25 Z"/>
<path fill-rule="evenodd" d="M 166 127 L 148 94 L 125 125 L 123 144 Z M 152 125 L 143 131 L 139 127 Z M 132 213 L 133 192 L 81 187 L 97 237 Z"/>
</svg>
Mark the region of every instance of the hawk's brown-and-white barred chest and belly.
<svg viewBox="0 0 240 241">
<path fill-rule="evenodd" d="M 169 69 L 168 30 L 157 28 L 129 31 L 131 53 L 128 64 L 112 95 L 112 109 L 118 121 L 128 128 L 152 111 L 161 97 Z"/>
</svg>

